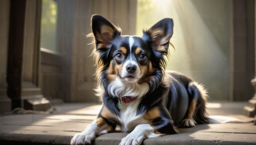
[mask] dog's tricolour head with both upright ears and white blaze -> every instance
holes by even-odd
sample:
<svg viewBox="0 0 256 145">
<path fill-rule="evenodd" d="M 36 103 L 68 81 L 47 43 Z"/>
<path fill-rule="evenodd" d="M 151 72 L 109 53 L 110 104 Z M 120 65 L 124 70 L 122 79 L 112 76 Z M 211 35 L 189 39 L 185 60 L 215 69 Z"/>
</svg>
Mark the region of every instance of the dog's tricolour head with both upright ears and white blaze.
<svg viewBox="0 0 256 145">
<path fill-rule="evenodd" d="M 164 18 L 143 31 L 143 36 L 122 36 L 121 29 L 100 15 L 92 16 L 98 79 L 149 83 L 161 78 L 173 34 L 173 20 Z M 160 76 L 157 76 L 157 75 Z"/>
</svg>

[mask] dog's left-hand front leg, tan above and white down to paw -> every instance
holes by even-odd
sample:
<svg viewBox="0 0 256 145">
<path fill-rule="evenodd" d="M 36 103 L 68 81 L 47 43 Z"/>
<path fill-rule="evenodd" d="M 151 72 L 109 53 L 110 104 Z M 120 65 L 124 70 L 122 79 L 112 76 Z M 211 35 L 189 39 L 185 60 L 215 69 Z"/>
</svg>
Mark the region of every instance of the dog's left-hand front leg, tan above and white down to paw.
<svg viewBox="0 0 256 145">
<path fill-rule="evenodd" d="M 74 135 L 70 144 L 91 144 L 96 135 L 113 132 L 111 127 L 103 118 L 97 118 L 83 132 Z"/>
</svg>

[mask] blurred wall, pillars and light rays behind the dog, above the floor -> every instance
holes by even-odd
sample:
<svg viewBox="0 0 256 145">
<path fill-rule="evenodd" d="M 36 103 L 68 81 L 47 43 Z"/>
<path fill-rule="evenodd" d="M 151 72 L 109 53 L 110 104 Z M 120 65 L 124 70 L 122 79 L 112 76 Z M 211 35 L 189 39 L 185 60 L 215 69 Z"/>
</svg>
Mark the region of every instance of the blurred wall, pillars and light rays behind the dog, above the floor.
<svg viewBox="0 0 256 145">
<path fill-rule="evenodd" d="M 173 18 L 167 69 L 204 84 L 212 101 L 251 99 L 255 77 L 254 0 L 0 1 L 0 106 L 44 110 L 56 100 L 95 97 L 90 18 L 141 36 Z M 255 81 L 253 81 L 255 82 Z"/>
</svg>

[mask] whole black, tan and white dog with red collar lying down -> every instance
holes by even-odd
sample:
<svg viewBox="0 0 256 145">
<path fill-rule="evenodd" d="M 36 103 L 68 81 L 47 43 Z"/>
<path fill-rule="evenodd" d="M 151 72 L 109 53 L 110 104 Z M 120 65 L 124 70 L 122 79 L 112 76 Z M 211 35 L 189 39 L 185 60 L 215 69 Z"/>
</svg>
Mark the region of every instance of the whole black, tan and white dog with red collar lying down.
<svg viewBox="0 0 256 145">
<path fill-rule="evenodd" d="M 102 109 L 97 119 L 70 144 L 91 144 L 97 135 L 130 132 L 120 144 L 177 134 L 177 127 L 209 123 L 207 91 L 193 79 L 165 71 L 172 43 L 172 18 L 164 18 L 143 36 L 122 36 L 121 29 L 100 15 L 92 16 L 97 95 Z"/>
</svg>

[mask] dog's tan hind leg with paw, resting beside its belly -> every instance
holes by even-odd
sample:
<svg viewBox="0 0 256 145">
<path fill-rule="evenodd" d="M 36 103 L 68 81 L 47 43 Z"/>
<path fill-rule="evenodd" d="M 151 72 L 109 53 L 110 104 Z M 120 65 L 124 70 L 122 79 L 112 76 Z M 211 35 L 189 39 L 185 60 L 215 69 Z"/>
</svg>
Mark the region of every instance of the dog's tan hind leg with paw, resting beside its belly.
<svg viewBox="0 0 256 145">
<path fill-rule="evenodd" d="M 191 103 L 188 108 L 188 116 L 186 117 L 186 119 L 182 121 L 182 127 L 195 127 L 196 121 L 193 120 L 195 109 L 196 109 L 196 100 L 193 99 L 191 100 Z"/>
</svg>

